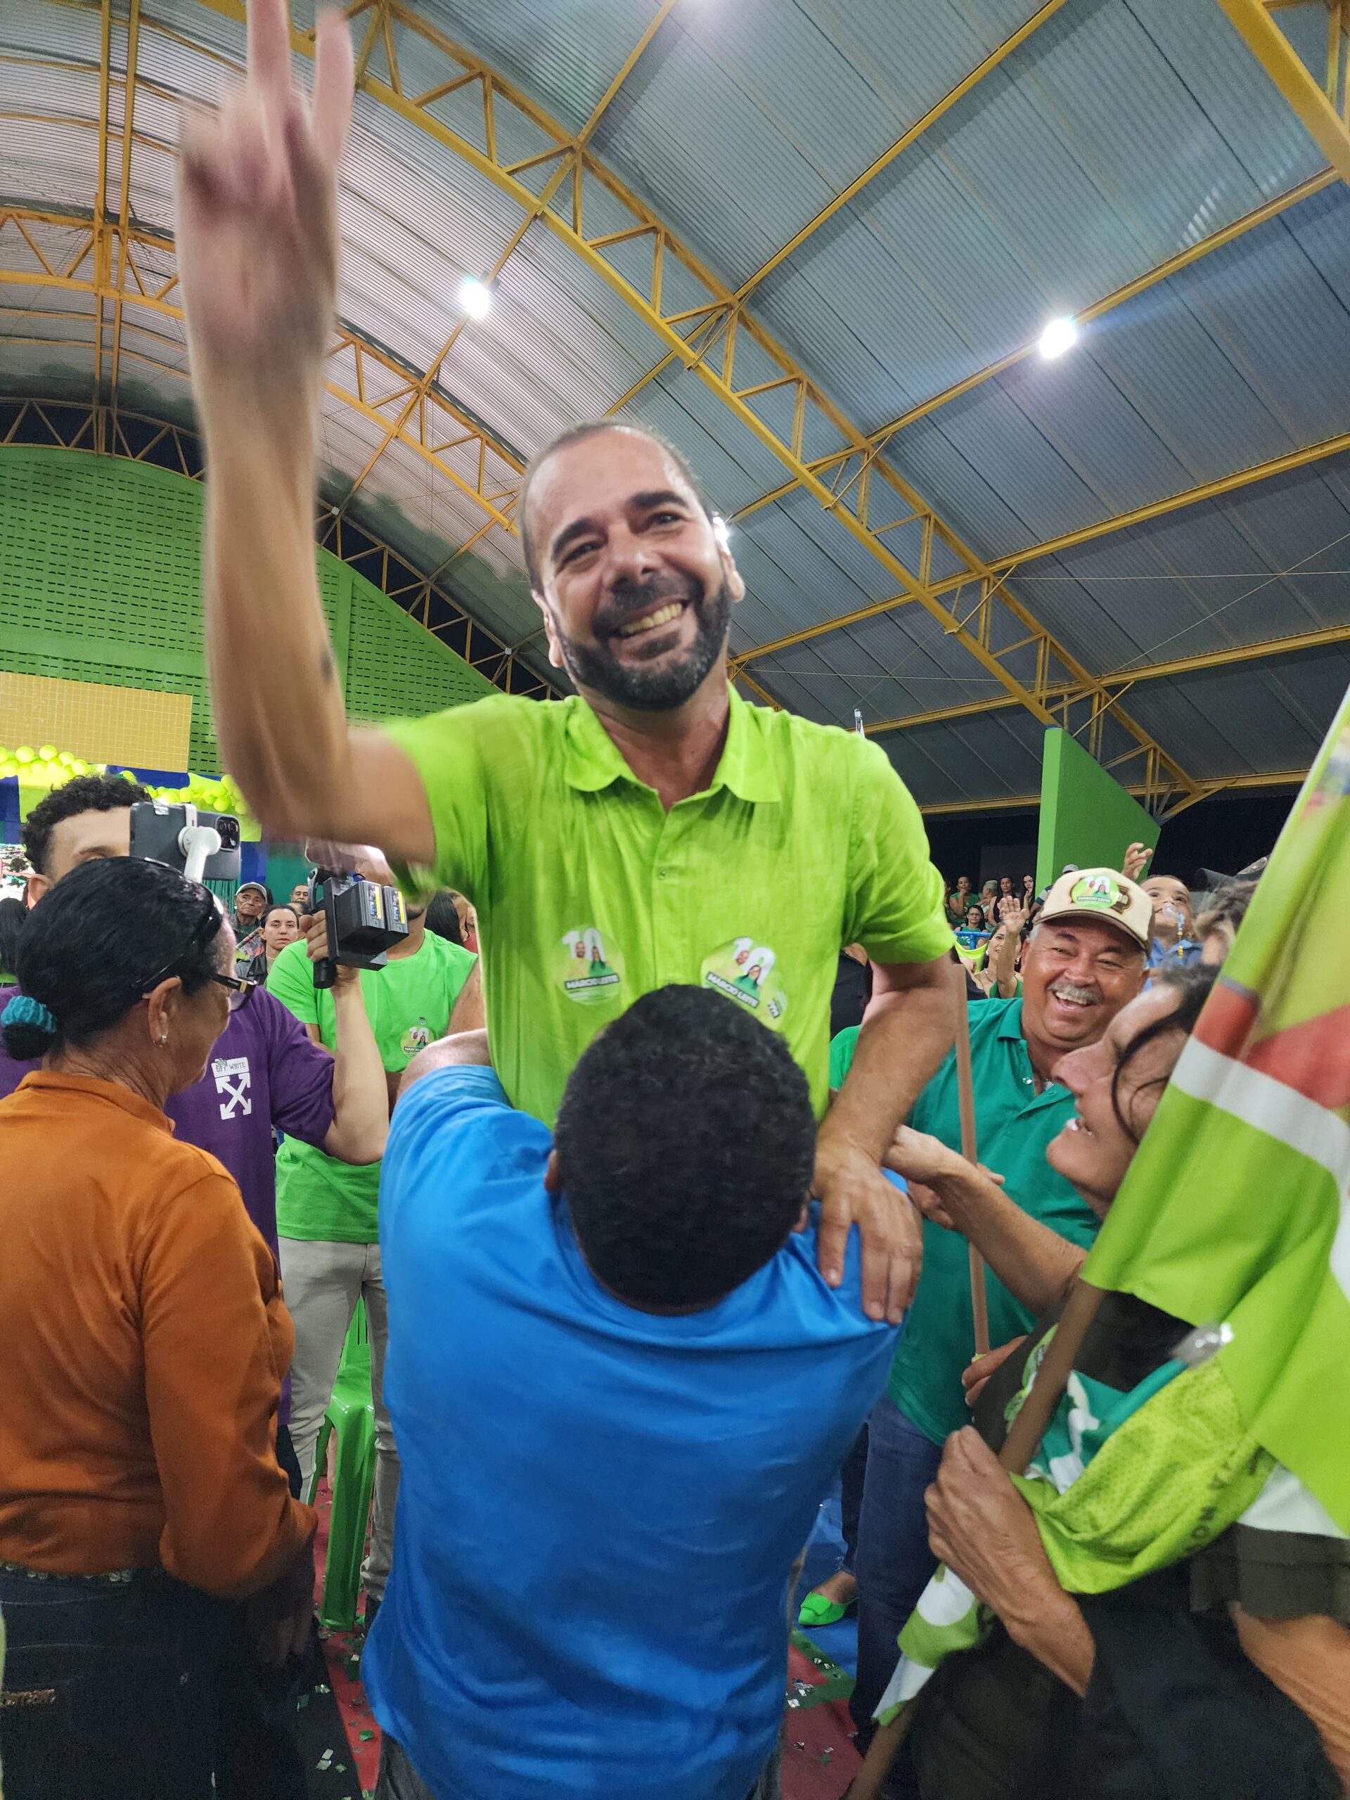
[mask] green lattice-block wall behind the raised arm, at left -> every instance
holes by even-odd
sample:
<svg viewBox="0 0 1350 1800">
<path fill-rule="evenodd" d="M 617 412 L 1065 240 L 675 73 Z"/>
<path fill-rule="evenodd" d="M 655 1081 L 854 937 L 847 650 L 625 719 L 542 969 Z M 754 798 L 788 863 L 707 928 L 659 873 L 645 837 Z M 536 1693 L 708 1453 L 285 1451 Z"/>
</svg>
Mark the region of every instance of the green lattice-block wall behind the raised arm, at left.
<svg viewBox="0 0 1350 1800">
<path fill-rule="evenodd" d="M 202 655 L 202 484 L 81 450 L 0 450 L 0 670 L 193 695 L 189 769 L 221 774 Z M 328 551 L 319 590 L 353 718 L 491 682 Z"/>
</svg>

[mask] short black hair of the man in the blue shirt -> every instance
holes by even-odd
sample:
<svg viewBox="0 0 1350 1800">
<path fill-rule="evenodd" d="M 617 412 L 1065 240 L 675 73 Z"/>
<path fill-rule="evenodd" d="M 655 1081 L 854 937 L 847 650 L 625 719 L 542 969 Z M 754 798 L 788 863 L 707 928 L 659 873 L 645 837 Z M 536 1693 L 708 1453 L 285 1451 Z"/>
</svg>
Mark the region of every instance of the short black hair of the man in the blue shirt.
<svg viewBox="0 0 1350 1800">
<path fill-rule="evenodd" d="M 785 1244 L 815 1118 L 781 1037 L 709 988 L 644 994 L 572 1069 L 554 1134 L 592 1274 L 639 1307 L 706 1307 Z"/>
</svg>

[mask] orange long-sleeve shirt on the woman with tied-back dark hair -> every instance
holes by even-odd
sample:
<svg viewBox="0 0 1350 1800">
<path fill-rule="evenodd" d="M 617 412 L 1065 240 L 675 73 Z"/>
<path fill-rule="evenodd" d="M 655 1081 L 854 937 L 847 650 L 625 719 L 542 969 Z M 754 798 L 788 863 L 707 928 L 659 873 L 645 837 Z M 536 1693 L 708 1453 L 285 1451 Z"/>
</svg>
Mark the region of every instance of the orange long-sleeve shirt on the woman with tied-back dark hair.
<svg viewBox="0 0 1350 1800">
<path fill-rule="evenodd" d="M 0 1102 L 0 1561 L 239 1597 L 313 1537 L 275 1456 L 275 1260 L 214 1156 L 115 1082 Z"/>
</svg>

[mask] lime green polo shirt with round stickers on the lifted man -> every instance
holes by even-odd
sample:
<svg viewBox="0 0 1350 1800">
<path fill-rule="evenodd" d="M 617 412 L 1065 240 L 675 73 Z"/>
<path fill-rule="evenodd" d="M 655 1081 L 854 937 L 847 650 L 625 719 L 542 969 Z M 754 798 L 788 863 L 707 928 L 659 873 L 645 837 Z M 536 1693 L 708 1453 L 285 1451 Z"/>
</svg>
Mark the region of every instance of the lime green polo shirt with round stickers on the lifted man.
<svg viewBox="0 0 1350 1800">
<path fill-rule="evenodd" d="M 781 1031 L 819 1116 L 839 947 L 880 963 L 950 947 L 918 806 L 851 731 L 733 693 L 711 783 L 666 812 L 578 697 L 385 729 L 436 828 L 436 866 L 405 878 L 473 902 L 497 1073 L 549 1125 L 596 1031 L 671 981 Z"/>
</svg>

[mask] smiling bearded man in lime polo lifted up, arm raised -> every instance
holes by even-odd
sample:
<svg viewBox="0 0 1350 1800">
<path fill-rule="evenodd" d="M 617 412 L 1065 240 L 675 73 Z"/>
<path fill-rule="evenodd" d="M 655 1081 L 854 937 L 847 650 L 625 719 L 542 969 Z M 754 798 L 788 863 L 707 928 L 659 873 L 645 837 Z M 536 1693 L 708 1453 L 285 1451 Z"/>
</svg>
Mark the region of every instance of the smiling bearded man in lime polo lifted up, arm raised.
<svg viewBox="0 0 1350 1800">
<path fill-rule="evenodd" d="M 270 835 L 378 844 L 421 871 L 416 886 L 468 895 L 493 1058 L 545 1120 L 596 1030 L 671 981 L 781 1031 L 823 1109 L 837 956 L 862 943 L 875 997 L 819 1132 L 821 1267 L 839 1280 L 857 1224 L 864 1303 L 898 1319 L 920 1233 L 880 1157 L 950 1042 L 941 878 L 880 749 L 731 695 L 745 585 L 684 459 L 599 421 L 531 468 L 515 517 L 574 698 L 347 725 L 311 522 L 351 45 L 326 16 L 310 108 L 286 23 L 284 0 L 254 0 L 248 86 L 229 115 L 189 124 L 180 157 L 225 763 Z"/>
</svg>

